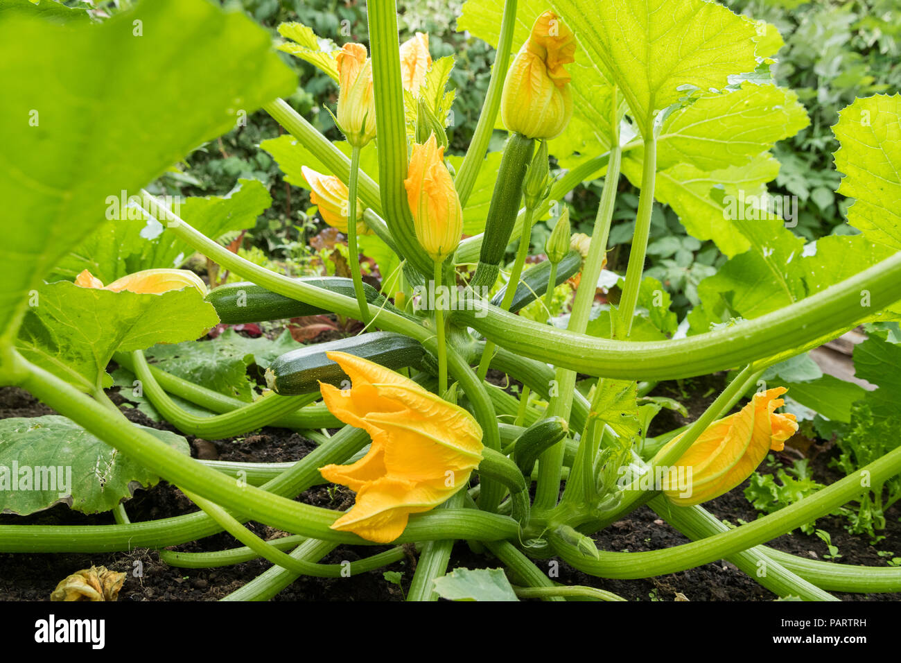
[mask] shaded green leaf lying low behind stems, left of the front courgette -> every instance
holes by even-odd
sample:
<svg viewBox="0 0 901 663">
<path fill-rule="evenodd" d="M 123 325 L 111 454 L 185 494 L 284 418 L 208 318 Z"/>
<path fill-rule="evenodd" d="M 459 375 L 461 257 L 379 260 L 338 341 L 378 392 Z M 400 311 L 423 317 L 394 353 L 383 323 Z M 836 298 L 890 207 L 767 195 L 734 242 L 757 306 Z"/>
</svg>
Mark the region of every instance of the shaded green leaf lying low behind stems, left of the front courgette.
<svg viewBox="0 0 901 663">
<path fill-rule="evenodd" d="M 209 341 L 155 345 L 146 355 L 148 362 L 160 370 L 250 402 L 253 390 L 247 367 L 257 364 L 266 369 L 278 355 L 300 346 L 287 329 L 270 341 L 265 336 L 247 338 L 229 328 Z"/>
</svg>

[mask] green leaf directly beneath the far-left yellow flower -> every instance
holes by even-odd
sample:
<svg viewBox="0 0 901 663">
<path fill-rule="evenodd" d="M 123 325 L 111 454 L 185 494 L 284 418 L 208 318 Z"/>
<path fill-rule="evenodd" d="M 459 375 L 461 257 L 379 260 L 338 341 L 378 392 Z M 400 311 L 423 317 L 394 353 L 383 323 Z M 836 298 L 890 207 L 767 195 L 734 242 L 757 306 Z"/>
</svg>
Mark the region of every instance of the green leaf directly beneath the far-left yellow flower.
<svg viewBox="0 0 901 663">
<path fill-rule="evenodd" d="M 203 336 L 218 323 L 196 288 L 136 294 L 81 288 L 58 281 L 41 286 L 25 314 L 16 347 L 32 364 L 81 391 L 108 387 L 113 353 Z"/>
</svg>

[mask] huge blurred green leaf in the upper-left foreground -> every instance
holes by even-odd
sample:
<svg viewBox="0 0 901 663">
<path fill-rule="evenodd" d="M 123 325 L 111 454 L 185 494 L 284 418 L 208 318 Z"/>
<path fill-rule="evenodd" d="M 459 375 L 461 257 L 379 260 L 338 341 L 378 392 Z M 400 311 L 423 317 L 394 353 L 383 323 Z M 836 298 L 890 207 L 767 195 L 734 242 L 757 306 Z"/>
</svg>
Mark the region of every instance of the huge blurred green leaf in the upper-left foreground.
<svg viewBox="0 0 901 663">
<path fill-rule="evenodd" d="M 267 32 L 205 0 L 145 0 L 99 25 L 0 20 L 2 349 L 108 196 L 136 193 L 296 81 Z"/>
</svg>

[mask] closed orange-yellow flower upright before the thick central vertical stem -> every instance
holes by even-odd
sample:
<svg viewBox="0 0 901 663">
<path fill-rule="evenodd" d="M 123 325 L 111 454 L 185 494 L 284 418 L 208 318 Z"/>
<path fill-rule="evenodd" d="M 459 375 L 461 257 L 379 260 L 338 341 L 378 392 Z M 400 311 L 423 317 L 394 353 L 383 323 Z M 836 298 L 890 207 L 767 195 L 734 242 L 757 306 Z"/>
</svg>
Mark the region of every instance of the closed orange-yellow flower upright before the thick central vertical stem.
<svg viewBox="0 0 901 663">
<path fill-rule="evenodd" d="M 435 134 L 423 145 L 413 144 L 404 186 L 419 244 L 432 260 L 444 260 L 460 244 L 463 208 Z"/>
</svg>

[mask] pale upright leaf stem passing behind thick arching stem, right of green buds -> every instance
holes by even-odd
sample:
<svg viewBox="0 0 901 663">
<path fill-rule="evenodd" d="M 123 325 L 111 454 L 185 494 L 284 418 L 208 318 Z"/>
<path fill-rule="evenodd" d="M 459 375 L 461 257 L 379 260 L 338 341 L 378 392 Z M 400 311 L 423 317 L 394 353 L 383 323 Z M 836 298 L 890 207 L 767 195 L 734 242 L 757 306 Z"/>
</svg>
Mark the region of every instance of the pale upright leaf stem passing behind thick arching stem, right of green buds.
<svg viewBox="0 0 901 663">
<path fill-rule="evenodd" d="M 569 316 L 567 330 L 573 335 L 584 336 L 585 334 L 588 318 L 591 315 L 591 305 L 595 301 L 597 279 L 604 268 L 607 238 L 610 235 L 616 188 L 619 183 L 621 154 L 618 144 L 614 144 L 610 151 L 610 161 L 607 165 L 601 201 L 597 206 L 595 229 L 591 235 L 591 244 L 588 246 L 588 255 L 585 266 L 582 268 L 582 277 Z M 542 329 L 547 328 L 549 327 L 542 324 Z M 563 367 L 556 361 L 551 361 L 551 363 L 557 365 L 557 373 L 554 378 L 557 391 L 556 395 L 551 398 L 547 416 L 569 420 L 573 393 L 576 391 L 576 371 Z M 557 504 L 557 497 L 560 493 L 560 470 L 563 466 L 563 449 L 563 444 L 558 443 L 545 451 L 539 459 L 535 511 L 550 511 Z"/>
</svg>

